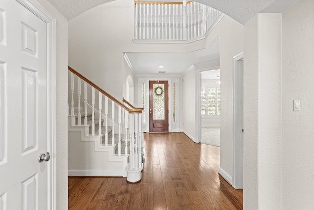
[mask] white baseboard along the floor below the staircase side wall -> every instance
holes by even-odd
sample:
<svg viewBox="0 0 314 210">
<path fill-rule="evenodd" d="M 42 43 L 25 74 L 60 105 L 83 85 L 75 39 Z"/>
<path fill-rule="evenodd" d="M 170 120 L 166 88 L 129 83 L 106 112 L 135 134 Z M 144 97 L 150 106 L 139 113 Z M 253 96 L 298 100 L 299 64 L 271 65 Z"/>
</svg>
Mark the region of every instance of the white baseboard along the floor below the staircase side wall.
<svg viewBox="0 0 314 210">
<path fill-rule="evenodd" d="M 80 176 L 80 177 L 93 177 L 93 176 L 104 176 L 104 177 L 123 177 L 123 171 L 112 171 L 112 170 L 68 170 L 68 176 Z"/>
</svg>

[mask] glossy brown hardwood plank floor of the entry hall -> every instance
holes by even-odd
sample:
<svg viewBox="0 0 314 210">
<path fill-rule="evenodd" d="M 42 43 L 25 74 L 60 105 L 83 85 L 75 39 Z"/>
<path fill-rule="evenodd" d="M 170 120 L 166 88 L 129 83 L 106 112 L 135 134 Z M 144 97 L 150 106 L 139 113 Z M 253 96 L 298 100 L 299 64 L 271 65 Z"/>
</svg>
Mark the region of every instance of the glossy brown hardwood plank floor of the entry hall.
<svg viewBox="0 0 314 210">
<path fill-rule="evenodd" d="M 142 180 L 69 177 L 69 210 L 241 210 L 242 190 L 218 175 L 219 147 L 183 133 L 145 133 Z"/>
</svg>

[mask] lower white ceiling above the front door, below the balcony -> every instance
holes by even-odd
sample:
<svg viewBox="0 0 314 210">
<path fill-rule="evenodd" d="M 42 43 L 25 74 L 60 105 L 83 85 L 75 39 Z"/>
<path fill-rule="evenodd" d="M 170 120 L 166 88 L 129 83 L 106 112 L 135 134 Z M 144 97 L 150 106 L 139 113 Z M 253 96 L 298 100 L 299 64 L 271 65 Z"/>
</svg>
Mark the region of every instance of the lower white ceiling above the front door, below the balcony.
<svg viewBox="0 0 314 210">
<path fill-rule="evenodd" d="M 219 38 L 205 49 L 190 53 L 126 53 L 135 75 L 165 74 L 183 76 L 192 65 L 219 61 Z M 159 68 L 158 66 L 164 66 Z"/>
</svg>

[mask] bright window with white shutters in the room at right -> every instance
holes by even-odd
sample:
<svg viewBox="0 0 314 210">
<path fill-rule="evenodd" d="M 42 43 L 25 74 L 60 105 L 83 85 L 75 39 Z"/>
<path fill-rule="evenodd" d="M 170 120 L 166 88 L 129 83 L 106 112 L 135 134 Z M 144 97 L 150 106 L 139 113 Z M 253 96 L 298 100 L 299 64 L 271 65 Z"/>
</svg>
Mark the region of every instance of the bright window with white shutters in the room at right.
<svg viewBox="0 0 314 210">
<path fill-rule="evenodd" d="M 202 117 L 220 116 L 220 88 L 206 87 L 201 90 Z"/>
</svg>

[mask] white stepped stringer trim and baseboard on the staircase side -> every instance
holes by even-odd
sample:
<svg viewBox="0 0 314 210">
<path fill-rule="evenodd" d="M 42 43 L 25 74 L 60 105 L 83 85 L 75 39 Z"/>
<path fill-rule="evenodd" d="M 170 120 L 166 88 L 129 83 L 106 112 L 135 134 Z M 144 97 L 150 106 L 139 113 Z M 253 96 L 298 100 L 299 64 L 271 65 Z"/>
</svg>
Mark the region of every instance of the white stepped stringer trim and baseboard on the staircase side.
<svg viewBox="0 0 314 210">
<path fill-rule="evenodd" d="M 120 162 L 122 166 L 120 167 L 119 170 L 115 171 L 110 171 L 110 170 L 85 170 L 85 169 L 80 169 L 80 170 L 68 170 L 68 175 L 69 176 L 123 176 L 127 177 L 127 171 L 126 167 L 128 165 L 128 158 L 129 154 L 121 154 L 117 155 L 115 154 L 115 145 L 108 145 L 105 146 L 101 144 L 103 135 L 97 135 L 95 134 L 94 136 L 88 134 L 88 126 L 85 125 L 71 125 L 71 117 L 73 116 L 69 115 L 68 116 L 68 135 L 70 138 L 70 133 L 71 132 L 79 132 L 80 136 L 80 142 L 94 142 L 94 151 L 95 152 L 106 152 L 108 155 L 108 162 Z M 87 129 L 86 129 L 87 127 Z M 86 135 L 87 131 L 87 135 Z"/>
</svg>

